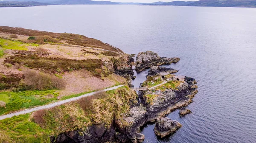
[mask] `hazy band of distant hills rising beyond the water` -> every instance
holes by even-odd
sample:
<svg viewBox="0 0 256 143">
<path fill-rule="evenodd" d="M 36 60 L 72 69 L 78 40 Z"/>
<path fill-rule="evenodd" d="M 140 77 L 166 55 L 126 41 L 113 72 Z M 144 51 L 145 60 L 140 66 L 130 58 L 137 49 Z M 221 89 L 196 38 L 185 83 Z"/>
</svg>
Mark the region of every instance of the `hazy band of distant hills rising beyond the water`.
<svg viewBox="0 0 256 143">
<path fill-rule="evenodd" d="M 17 2 L 15 2 L 17 1 Z M 37 1 L 37 2 L 34 2 Z M 199 0 L 199 1 L 172 1 L 155 3 L 122 3 L 93 0 L 4 0 L 0 7 L 46 6 L 46 5 L 147 5 L 147 6 L 215 6 L 215 7 L 256 7 L 256 0 Z"/>
</svg>

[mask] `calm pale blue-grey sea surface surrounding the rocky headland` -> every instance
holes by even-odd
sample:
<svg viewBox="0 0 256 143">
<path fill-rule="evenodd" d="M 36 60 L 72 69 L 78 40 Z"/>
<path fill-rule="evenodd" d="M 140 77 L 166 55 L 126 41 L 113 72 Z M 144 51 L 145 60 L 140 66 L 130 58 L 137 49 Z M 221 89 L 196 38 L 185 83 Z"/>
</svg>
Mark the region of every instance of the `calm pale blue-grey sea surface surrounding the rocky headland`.
<svg viewBox="0 0 256 143">
<path fill-rule="evenodd" d="M 144 143 L 256 143 L 256 8 L 176 6 L 40 6 L 0 8 L 0 25 L 82 34 L 126 53 L 153 50 L 180 57 L 170 67 L 195 78 L 198 94 L 169 118 L 181 127 L 159 140 L 154 124 Z M 147 71 L 136 74 L 134 86 Z"/>
</svg>

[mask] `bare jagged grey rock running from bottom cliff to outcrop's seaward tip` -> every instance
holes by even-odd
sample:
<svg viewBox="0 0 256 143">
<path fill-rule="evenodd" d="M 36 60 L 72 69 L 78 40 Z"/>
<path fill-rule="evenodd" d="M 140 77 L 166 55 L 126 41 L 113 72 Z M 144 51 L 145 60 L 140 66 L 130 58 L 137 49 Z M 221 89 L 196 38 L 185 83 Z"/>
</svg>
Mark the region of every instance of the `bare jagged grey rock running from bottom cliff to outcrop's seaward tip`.
<svg viewBox="0 0 256 143">
<path fill-rule="evenodd" d="M 52 143 L 102 143 L 106 141 L 140 143 L 144 139 L 144 135 L 140 134 L 140 127 L 149 121 L 157 121 L 157 119 L 175 109 L 185 107 L 191 103 L 192 98 L 198 92 L 194 89 L 195 86 L 193 85 L 195 83 L 195 79 L 185 77 L 185 82 L 180 82 L 175 89 L 166 87 L 165 90 L 139 92 L 140 106 L 131 105 L 130 112 L 123 118 L 113 117 L 110 129 L 106 129 L 104 125 L 93 125 L 88 127 L 85 132 L 76 130 L 61 133 Z M 148 104 L 144 99 L 147 94 L 157 95 L 154 99 L 151 99 L 151 104 Z M 173 121 L 172 123 L 175 124 L 176 122 Z M 166 124 L 172 125 L 172 123 Z M 176 124 L 176 128 L 178 128 L 179 124 Z M 161 131 L 160 133 L 163 136 L 170 134 L 174 127 L 167 128 L 168 131 L 163 130 L 165 128 L 156 131 Z"/>
</svg>

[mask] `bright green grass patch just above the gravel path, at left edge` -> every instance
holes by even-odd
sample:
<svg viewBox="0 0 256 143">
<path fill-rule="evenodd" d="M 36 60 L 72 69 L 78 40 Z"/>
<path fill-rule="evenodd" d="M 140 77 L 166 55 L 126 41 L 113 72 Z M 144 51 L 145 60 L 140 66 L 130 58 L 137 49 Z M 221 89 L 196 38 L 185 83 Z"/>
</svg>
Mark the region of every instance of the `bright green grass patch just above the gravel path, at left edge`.
<svg viewBox="0 0 256 143">
<path fill-rule="evenodd" d="M 6 108 L 0 108 L 0 115 L 20 109 L 42 106 L 57 100 L 56 90 L 28 90 L 23 92 L 0 92 L 0 101 L 6 102 Z"/>
</svg>

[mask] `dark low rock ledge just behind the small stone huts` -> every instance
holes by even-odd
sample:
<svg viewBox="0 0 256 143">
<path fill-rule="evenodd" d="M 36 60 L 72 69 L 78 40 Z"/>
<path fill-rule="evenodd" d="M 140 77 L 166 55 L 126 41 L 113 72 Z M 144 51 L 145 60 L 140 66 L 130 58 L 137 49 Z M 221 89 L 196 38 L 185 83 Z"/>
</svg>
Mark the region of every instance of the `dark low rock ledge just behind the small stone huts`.
<svg viewBox="0 0 256 143">
<path fill-rule="evenodd" d="M 148 70 L 148 75 L 146 76 L 146 78 L 148 79 L 152 76 L 160 76 L 160 73 L 176 73 L 176 72 L 178 71 L 172 68 L 153 66 L 153 67 L 150 67 L 150 69 Z"/>
</svg>

